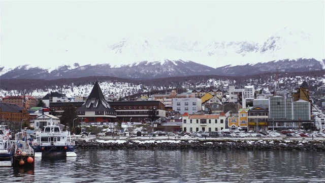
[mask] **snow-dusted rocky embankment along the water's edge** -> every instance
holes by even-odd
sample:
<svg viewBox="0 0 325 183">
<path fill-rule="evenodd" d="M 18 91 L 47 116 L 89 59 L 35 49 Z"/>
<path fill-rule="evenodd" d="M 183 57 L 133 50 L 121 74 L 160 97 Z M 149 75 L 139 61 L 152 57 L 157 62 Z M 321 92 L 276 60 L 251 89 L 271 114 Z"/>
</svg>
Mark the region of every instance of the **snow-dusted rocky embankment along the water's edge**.
<svg viewBox="0 0 325 183">
<path fill-rule="evenodd" d="M 228 150 L 316 150 L 325 151 L 324 140 L 78 140 L 77 149 L 228 149 Z"/>
</svg>

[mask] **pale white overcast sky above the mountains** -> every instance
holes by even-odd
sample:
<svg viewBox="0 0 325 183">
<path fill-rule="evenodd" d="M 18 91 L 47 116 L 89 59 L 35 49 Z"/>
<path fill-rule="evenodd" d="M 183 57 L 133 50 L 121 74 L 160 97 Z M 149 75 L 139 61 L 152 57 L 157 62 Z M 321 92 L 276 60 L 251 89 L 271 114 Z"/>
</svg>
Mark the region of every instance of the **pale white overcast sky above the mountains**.
<svg viewBox="0 0 325 183">
<path fill-rule="evenodd" d="M 1 67 L 110 63 L 130 35 L 263 43 L 284 27 L 324 41 L 324 1 L 3 1 Z M 69 52 L 75 48 L 80 51 Z M 79 49 L 80 48 L 80 49 Z M 69 54 L 68 54 L 69 53 Z M 112 61 L 111 61 L 112 62 Z"/>
</svg>

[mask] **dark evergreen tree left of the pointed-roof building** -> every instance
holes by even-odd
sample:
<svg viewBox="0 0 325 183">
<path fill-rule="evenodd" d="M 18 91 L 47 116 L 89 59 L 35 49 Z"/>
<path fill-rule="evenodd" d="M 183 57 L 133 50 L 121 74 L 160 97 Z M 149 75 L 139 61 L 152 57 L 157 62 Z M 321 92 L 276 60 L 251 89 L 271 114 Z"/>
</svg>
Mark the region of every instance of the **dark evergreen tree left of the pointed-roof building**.
<svg viewBox="0 0 325 183">
<path fill-rule="evenodd" d="M 73 121 L 75 118 L 78 118 L 77 112 L 76 112 L 76 107 L 72 104 L 66 105 L 67 108 L 64 109 L 62 116 L 60 117 L 60 123 L 64 126 L 69 126 L 72 127 L 73 125 L 76 127 L 78 125 L 79 119 L 76 119 Z M 72 128 L 70 128 L 72 129 Z"/>
</svg>

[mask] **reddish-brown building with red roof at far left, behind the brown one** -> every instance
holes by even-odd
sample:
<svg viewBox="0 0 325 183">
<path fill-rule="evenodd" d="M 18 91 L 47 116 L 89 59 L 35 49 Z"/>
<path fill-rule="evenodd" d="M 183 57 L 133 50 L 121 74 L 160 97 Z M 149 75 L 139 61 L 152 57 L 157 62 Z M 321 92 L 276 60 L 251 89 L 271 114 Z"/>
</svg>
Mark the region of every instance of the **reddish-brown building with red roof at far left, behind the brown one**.
<svg viewBox="0 0 325 183">
<path fill-rule="evenodd" d="M 38 100 L 31 96 L 6 96 L 2 99 L 4 103 L 16 104 L 19 107 L 25 107 L 27 110 L 35 107 Z"/>
</svg>

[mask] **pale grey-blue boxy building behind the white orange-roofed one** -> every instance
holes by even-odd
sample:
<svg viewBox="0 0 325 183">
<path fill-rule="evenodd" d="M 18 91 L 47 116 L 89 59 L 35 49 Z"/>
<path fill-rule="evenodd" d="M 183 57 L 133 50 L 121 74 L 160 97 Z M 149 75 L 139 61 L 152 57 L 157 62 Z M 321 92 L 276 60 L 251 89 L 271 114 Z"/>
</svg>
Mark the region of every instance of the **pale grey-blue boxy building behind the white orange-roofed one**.
<svg viewBox="0 0 325 183">
<path fill-rule="evenodd" d="M 173 110 L 179 111 L 181 114 L 185 112 L 194 114 L 202 110 L 202 100 L 199 98 L 174 98 Z"/>
</svg>

